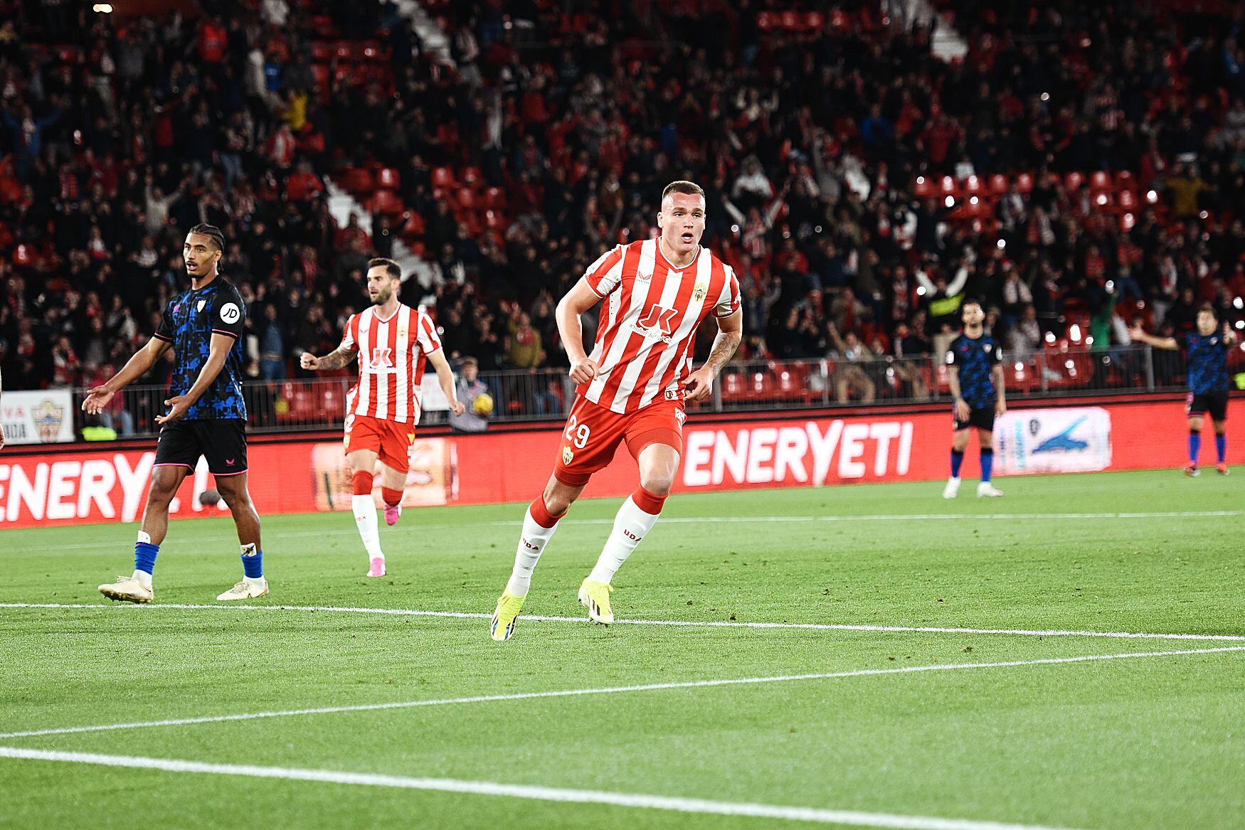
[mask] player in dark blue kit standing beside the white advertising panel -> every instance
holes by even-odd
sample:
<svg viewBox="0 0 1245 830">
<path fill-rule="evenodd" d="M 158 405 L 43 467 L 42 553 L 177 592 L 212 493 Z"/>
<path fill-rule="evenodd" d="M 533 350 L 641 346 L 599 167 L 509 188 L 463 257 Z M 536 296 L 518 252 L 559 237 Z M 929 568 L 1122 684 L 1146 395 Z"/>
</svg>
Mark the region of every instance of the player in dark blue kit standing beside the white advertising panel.
<svg viewBox="0 0 1245 830">
<path fill-rule="evenodd" d="M 946 352 L 947 383 L 955 397 L 952 406 L 951 478 L 942 488 L 944 499 L 960 493 L 960 465 L 969 445 L 969 429 L 977 431 L 981 442 L 981 483 L 977 495 L 995 498 L 1002 490 L 990 483 L 995 465 L 995 418 L 1007 412 L 1003 391 L 1003 356 L 995 338 L 986 333 L 981 304 L 966 300 L 960 307 L 964 333 L 951 341 Z"/>
</svg>

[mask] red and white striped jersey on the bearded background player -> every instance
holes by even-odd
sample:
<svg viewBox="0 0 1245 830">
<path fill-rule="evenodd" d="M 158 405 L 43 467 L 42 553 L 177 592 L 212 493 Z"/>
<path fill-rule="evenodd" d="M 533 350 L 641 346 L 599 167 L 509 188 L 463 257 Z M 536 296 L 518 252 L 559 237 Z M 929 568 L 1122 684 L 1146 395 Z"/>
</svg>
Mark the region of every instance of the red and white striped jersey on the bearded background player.
<svg viewBox="0 0 1245 830">
<path fill-rule="evenodd" d="M 359 383 L 346 396 L 346 417 L 370 416 L 415 424 L 425 360 L 441 348 L 432 317 L 398 304 L 387 320 L 376 306 L 351 315 L 341 348 L 359 352 Z"/>
</svg>

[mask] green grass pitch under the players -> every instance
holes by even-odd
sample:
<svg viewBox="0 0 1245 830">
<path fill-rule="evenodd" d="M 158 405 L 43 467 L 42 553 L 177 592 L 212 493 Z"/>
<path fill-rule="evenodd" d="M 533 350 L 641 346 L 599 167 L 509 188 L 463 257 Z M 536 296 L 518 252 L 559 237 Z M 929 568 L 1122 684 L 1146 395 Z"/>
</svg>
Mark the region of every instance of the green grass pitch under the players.
<svg viewBox="0 0 1245 830">
<path fill-rule="evenodd" d="M 172 523 L 143 607 L 96 592 L 134 525 L 2 531 L 0 826 L 1245 826 L 1245 482 L 972 484 L 677 495 L 610 627 L 575 590 L 619 501 L 583 501 L 525 607 L 560 618 L 500 645 L 364 610 L 492 612 L 522 505 L 407 510 L 381 580 L 350 514 L 266 518 L 249 610 L 167 607 L 240 577 L 228 518 Z M 743 682 L 603 691 L 695 681 Z"/>
</svg>

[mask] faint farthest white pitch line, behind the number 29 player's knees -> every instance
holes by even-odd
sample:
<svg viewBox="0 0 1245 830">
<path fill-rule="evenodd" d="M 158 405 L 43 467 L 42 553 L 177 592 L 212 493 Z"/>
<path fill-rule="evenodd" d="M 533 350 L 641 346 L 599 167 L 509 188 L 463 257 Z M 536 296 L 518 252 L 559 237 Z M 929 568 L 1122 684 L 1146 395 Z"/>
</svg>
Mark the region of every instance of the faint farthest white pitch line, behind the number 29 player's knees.
<svg viewBox="0 0 1245 830">
<path fill-rule="evenodd" d="M 1101 519 L 1218 519 L 1245 515 L 1245 510 L 1165 510 L 1155 513 L 889 513 L 868 515 L 818 515 L 818 516 L 667 516 L 661 524 L 782 524 L 807 521 L 1020 521 L 1020 520 L 1101 520 Z M 194 516 L 186 516 L 194 518 Z M 199 516 L 205 518 L 205 516 Z M 464 523 L 431 523 L 403 526 L 387 533 L 417 533 L 420 530 L 461 530 Z M 469 521 L 472 528 L 518 528 L 518 521 Z M 563 519 L 559 525 L 613 525 L 614 519 Z M 281 539 L 322 539 L 325 536 L 356 536 L 354 528 L 317 531 L 281 533 Z M 200 536 L 197 541 L 233 541 L 235 536 Z M 174 540 L 176 543 L 176 540 Z M 81 545 L 41 545 L 22 548 L 24 551 L 101 550 L 101 543 Z M 111 551 L 110 551 L 111 553 Z"/>
</svg>

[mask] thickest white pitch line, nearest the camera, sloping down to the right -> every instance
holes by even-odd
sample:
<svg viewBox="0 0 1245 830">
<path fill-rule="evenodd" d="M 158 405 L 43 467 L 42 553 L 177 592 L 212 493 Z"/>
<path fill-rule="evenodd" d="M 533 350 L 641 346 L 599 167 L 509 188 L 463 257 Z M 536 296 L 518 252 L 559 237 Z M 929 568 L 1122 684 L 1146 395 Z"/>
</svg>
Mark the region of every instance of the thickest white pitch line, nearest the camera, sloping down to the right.
<svg viewBox="0 0 1245 830">
<path fill-rule="evenodd" d="M 743 801 L 712 801 L 708 799 L 690 799 L 670 795 L 576 790 L 555 786 L 534 786 L 527 784 L 471 781 L 453 778 L 410 778 L 406 775 L 347 773 L 329 769 L 254 767 L 249 764 L 212 764 L 173 758 L 102 755 L 97 753 L 22 749 L 19 747 L 0 747 L 0 758 L 93 764 L 98 767 L 123 767 L 129 769 L 158 769 L 168 773 L 242 775 L 247 778 L 266 778 L 289 781 L 315 781 L 317 784 L 352 784 L 362 786 L 390 786 L 405 790 L 499 795 L 504 798 L 528 799 L 533 801 L 559 801 L 563 804 L 608 804 L 611 806 L 667 810 L 672 813 L 691 813 L 700 815 L 732 815 L 757 819 L 810 821 L 817 824 L 845 824 L 857 828 L 891 828 L 894 830 L 1055 830 L 1052 828 L 1043 828 L 1032 824 L 976 821 L 972 819 L 940 819 L 924 815 L 864 813 L 860 810 L 823 810 L 819 808 L 807 806 L 781 806 L 774 804 L 749 804 Z"/>
</svg>

